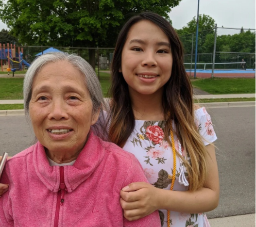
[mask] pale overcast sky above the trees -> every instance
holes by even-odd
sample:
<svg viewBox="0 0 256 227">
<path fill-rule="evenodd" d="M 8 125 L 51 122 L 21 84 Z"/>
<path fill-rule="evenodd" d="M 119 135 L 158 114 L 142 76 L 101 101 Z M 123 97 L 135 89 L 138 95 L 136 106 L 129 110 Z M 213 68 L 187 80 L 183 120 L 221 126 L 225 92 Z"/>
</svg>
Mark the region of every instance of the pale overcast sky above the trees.
<svg viewBox="0 0 256 227">
<path fill-rule="evenodd" d="M 218 27 L 255 29 L 255 0 L 200 0 L 199 14 L 211 16 Z M 182 0 L 169 14 L 172 25 L 181 29 L 197 15 L 198 0 Z M 7 26 L 0 21 L 0 30 Z M 219 29 L 218 34 L 226 33 Z M 228 32 L 236 32 L 228 30 Z M 239 32 L 239 30 L 237 31 Z"/>
</svg>

